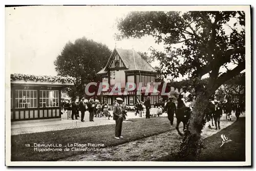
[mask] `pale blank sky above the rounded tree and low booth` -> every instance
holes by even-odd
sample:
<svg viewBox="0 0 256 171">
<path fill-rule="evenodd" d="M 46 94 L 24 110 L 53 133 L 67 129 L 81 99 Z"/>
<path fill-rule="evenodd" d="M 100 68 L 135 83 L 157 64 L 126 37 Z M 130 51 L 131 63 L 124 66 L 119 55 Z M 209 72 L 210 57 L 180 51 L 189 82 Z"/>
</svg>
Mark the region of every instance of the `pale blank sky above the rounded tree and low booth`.
<svg viewBox="0 0 256 171">
<path fill-rule="evenodd" d="M 6 8 L 6 56 L 11 73 L 57 75 L 54 60 L 68 41 L 83 36 L 115 48 L 163 50 L 152 37 L 115 41 L 116 21 L 135 7 L 33 6 Z M 153 67 L 159 62 L 154 61 Z M 182 79 L 179 78 L 178 80 Z"/>
</svg>

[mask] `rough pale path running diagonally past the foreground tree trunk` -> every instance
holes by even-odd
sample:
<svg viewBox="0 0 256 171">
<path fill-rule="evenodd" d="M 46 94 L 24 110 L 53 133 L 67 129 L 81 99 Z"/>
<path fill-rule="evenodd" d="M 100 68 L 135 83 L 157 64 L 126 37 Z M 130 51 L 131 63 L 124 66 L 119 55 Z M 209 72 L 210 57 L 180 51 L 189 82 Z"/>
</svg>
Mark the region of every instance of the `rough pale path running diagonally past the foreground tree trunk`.
<svg viewBox="0 0 256 171">
<path fill-rule="evenodd" d="M 241 117 L 243 116 L 244 115 Z M 232 115 L 231 118 L 232 121 L 226 121 L 225 116 L 223 115 L 221 118 L 221 129 L 234 122 L 234 115 Z M 180 130 L 182 130 L 182 128 L 180 128 Z M 202 138 L 204 139 L 216 133 L 217 130 L 213 127 L 211 129 L 205 127 L 202 133 Z M 106 148 L 106 151 L 87 152 L 86 154 L 72 156 L 60 161 L 152 161 L 164 155 L 177 152 L 181 140 L 182 137 L 178 135 L 175 127 L 172 127 L 171 131 L 163 134 L 114 147 L 108 147 Z"/>
</svg>

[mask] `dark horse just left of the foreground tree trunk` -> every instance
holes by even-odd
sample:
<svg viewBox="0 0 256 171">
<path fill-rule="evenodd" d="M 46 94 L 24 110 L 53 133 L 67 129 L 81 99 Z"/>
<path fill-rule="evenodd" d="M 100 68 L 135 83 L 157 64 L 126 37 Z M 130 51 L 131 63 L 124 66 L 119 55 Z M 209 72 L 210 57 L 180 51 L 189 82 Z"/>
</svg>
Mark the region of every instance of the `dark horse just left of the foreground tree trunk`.
<svg viewBox="0 0 256 171">
<path fill-rule="evenodd" d="M 187 108 L 182 101 L 182 95 L 179 96 L 177 99 L 178 105 L 177 105 L 177 110 L 176 110 L 176 118 L 177 118 L 177 125 L 176 125 L 176 130 L 178 131 L 179 135 L 183 136 L 183 134 L 179 130 L 179 124 L 180 122 L 183 123 L 183 132 L 188 129 L 187 122 L 190 118 L 191 111 L 189 108 Z"/>
</svg>

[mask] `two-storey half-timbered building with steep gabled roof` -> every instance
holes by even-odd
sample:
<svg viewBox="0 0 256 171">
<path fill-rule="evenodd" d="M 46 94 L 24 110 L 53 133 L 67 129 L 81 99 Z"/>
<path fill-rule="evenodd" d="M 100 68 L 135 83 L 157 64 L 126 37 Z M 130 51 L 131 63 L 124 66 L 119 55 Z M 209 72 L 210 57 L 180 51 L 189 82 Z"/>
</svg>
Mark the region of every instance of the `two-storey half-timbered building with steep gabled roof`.
<svg viewBox="0 0 256 171">
<path fill-rule="evenodd" d="M 136 84 L 134 91 L 121 95 L 126 105 L 133 106 L 138 101 L 144 101 L 148 95 L 150 95 L 152 103 L 158 102 L 158 93 L 160 92 L 155 89 L 156 70 L 133 49 L 115 48 L 106 66 L 97 74 L 101 76 L 102 82 L 109 83 L 110 90 L 116 83 L 120 83 L 121 88 L 125 88 L 126 82 Z M 140 89 L 138 89 L 139 84 L 141 85 Z M 150 89 L 146 90 L 147 84 L 150 84 Z M 110 93 L 110 91 L 102 92 L 100 95 L 101 101 L 107 102 L 110 106 L 113 105 L 116 97 L 120 96 L 120 94 Z"/>
</svg>

